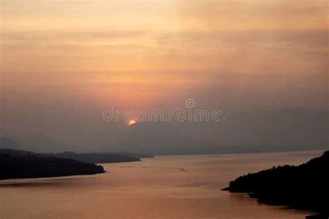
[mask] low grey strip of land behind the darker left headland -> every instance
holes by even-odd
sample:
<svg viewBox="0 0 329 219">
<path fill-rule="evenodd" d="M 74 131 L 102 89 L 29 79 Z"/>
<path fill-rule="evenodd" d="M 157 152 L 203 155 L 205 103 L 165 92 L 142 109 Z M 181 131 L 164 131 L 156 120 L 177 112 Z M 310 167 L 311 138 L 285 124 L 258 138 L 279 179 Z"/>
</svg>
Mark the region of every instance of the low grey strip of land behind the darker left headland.
<svg viewBox="0 0 329 219">
<path fill-rule="evenodd" d="M 62 152 L 62 153 L 48 153 L 43 154 L 51 157 L 60 157 L 68 159 L 76 159 L 90 164 L 103 164 L 103 163 L 119 163 L 140 161 L 138 157 L 130 157 L 128 155 L 120 155 L 113 153 L 75 153 L 75 152 Z"/>
</svg>

